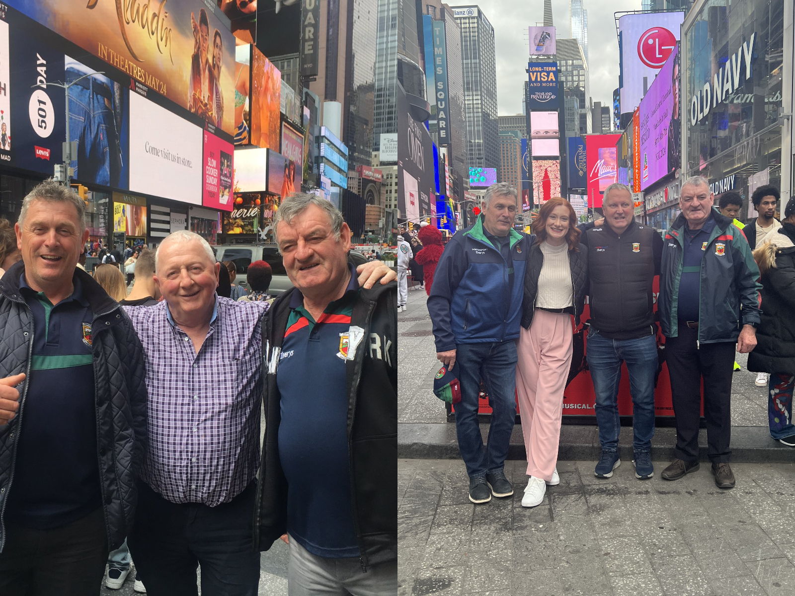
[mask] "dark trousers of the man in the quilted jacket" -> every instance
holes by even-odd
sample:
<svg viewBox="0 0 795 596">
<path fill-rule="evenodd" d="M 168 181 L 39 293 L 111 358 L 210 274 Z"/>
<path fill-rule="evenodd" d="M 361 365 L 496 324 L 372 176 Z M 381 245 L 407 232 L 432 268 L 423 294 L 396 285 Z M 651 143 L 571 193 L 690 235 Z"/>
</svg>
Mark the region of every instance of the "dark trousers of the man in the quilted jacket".
<svg viewBox="0 0 795 596">
<path fill-rule="evenodd" d="M 2 596 L 99 594 L 107 563 L 103 508 L 61 528 L 21 528 L 6 515 L 0 552 Z"/>
</svg>

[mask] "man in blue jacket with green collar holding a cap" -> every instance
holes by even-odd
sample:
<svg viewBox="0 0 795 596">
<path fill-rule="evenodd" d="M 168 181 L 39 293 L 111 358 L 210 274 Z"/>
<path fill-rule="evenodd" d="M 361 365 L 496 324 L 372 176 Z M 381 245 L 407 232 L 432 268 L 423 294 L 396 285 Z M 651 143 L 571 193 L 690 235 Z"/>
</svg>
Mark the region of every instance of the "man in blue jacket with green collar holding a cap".
<svg viewBox="0 0 795 596">
<path fill-rule="evenodd" d="M 503 468 L 516 416 L 514 340 L 519 337 L 531 238 L 514 230 L 517 210 L 517 193 L 510 184 L 487 188 L 483 214 L 444 247 L 428 297 L 436 358 L 443 365 L 439 372 L 452 372 L 460 381 L 456 433 L 473 503 L 514 493 Z M 486 449 L 478 424 L 481 378 L 493 408 Z"/>
</svg>

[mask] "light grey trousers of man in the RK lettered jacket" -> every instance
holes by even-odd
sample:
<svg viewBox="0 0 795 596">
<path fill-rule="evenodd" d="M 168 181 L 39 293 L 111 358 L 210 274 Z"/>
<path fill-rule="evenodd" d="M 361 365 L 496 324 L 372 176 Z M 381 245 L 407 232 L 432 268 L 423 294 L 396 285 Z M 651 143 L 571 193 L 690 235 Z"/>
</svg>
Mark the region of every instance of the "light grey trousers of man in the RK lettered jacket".
<svg viewBox="0 0 795 596">
<path fill-rule="evenodd" d="M 362 571 L 358 558 L 325 559 L 312 555 L 290 536 L 288 596 L 394 596 L 397 561 L 370 565 Z"/>
</svg>

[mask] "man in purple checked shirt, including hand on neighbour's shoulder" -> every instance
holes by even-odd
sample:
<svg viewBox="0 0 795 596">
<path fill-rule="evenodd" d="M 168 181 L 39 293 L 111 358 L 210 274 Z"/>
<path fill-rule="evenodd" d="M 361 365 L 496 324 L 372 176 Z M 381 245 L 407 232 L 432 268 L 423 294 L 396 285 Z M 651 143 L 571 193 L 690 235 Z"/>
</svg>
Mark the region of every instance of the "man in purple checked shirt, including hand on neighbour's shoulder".
<svg viewBox="0 0 795 596">
<path fill-rule="evenodd" d="M 157 250 L 164 300 L 130 307 L 146 354 L 149 449 L 128 539 L 150 596 L 254 596 L 253 547 L 267 302 L 215 295 L 220 264 L 187 230 Z M 389 269 L 363 265 L 372 282 Z M 394 279 L 394 273 L 392 273 Z"/>
</svg>

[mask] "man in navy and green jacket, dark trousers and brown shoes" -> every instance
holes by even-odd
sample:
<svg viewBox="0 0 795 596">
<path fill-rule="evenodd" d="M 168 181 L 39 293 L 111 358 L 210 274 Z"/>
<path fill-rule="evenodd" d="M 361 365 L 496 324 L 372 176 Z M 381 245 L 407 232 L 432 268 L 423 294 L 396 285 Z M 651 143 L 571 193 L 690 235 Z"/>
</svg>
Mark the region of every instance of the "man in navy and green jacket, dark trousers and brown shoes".
<svg viewBox="0 0 795 596">
<path fill-rule="evenodd" d="M 762 286 L 743 232 L 712 208 L 714 200 L 705 178 L 688 178 L 681 215 L 665 233 L 657 313 L 667 338 L 677 446 L 662 477 L 677 480 L 699 468 L 703 381 L 708 457 L 715 484 L 728 489 L 735 486 L 729 466 L 735 343 L 740 354 L 756 346 Z"/>
</svg>

